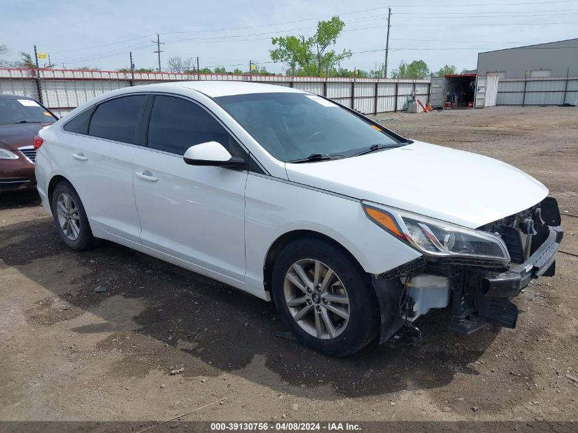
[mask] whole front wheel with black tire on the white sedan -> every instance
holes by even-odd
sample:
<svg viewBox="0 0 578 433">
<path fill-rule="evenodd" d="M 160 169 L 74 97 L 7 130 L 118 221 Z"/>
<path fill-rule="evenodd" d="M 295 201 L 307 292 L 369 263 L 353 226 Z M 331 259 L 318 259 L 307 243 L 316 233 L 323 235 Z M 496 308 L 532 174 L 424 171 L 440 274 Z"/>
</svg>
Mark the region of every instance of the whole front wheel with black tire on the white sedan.
<svg viewBox="0 0 578 433">
<path fill-rule="evenodd" d="M 369 276 L 327 241 L 302 239 L 285 247 L 273 267 L 272 295 L 295 338 L 315 352 L 348 356 L 378 333 Z"/>
</svg>

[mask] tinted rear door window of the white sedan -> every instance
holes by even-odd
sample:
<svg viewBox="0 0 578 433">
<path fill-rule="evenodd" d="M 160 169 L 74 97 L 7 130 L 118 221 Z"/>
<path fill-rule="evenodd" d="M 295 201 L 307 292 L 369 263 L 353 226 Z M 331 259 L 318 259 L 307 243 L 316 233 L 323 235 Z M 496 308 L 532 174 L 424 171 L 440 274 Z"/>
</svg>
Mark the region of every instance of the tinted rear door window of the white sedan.
<svg viewBox="0 0 578 433">
<path fill-rule="evenodd" d="M 90 120 L 88 135 L 135 144 L 135 135 L 145 95 L 123 96 L 98 105 Z"/>
</svg>

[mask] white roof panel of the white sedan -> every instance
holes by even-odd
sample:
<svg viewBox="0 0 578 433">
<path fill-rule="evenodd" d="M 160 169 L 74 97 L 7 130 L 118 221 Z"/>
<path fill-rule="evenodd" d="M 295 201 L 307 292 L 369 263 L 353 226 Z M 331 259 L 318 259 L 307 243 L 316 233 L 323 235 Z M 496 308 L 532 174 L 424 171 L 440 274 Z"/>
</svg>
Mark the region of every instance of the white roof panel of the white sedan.
<svg viewBox="0 0 578 433">
<path fill-rule="evenodd" d="M 149 84 L 139 86 L 141 89 L 146 87 L 147 90 L 154 91 L 155 87 L 177 87 L 196 90 L 210 96 L 218 98 L 219 96 L 231 96 L 236 94 L 250 93 L 306 93 L 302 90 L 289 88 L 287 86 L 275 86 L 273 84 L 247 83 L 241 81 L 175 81 L 172 83 Z M 176 89 L 175 89 L 176 90 Z"/>
</svg>

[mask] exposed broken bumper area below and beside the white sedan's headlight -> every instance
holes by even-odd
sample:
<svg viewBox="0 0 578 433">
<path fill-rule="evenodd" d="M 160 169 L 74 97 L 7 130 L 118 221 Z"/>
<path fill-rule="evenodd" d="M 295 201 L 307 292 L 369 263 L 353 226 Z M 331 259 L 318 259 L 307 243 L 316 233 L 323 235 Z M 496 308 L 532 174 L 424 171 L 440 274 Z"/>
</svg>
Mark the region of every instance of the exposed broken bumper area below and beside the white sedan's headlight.
<svg viewBox="0 0 578 433">
<path fill-rule="evenodd" d="M 374 276 L 373 287 L 378 296 L 382 319 L 380 342 L 389 341 L 404 324 L 412 324 L 430 309 L 444 308 L 450 303 L 449 328 L 456 332 L 471 334 L 486 324 L 514 328 L 518 309 L 511 299 L 532 279 L 554 275 L 555 258 L 564 235 L 555 200 L 547 198 L 536 206 L 542 207 L 544 220 L 537 222 L 535 229 L 532 227 L 531 236 L 525 237 L 527 248 L 523 254 L 523 263 L 511 263 L 507 268 L 497 268 L 480 263 L 469 265 L 429 261 L 420 257 Z M 525 215 L 528 213 L 529 210 L 525 211 Z M 514 228 L 520 232 L 514 226 L 508 230 Z M 524 249 L 518 247 L 518 251 L 514 251 L 516 244 L 513 245 L 512 257 Z"/>
</svg>

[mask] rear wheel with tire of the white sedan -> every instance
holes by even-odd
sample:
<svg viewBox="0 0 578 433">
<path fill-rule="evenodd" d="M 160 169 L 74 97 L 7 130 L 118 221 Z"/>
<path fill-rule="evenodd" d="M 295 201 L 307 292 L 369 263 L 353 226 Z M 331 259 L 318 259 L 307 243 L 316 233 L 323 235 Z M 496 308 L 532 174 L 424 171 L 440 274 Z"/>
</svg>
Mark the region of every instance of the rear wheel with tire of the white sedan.
<svg viewBox="0 0 578 433">
<path fill-rule="evenodd" d="M 73 185 L 66 181 L 56 185 L 51 197 L 51 209 L 58 235 L 68 248 L 84 251 L 98 244 Z"/>
</svg>

